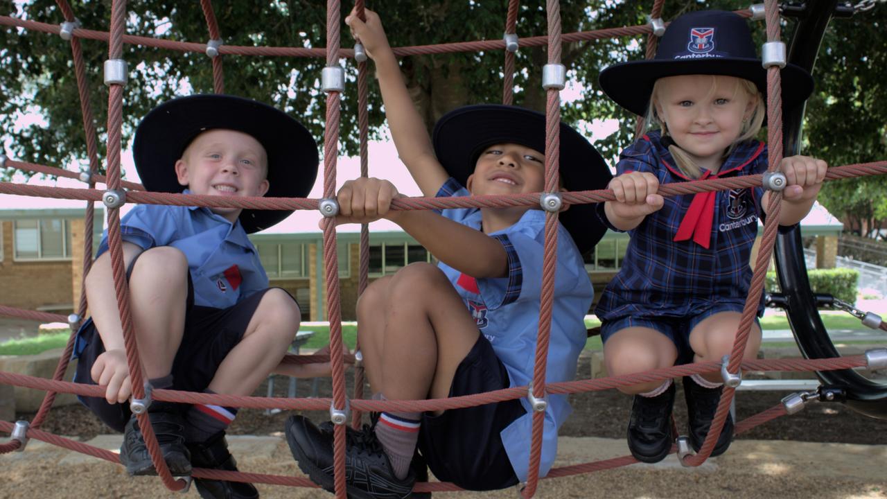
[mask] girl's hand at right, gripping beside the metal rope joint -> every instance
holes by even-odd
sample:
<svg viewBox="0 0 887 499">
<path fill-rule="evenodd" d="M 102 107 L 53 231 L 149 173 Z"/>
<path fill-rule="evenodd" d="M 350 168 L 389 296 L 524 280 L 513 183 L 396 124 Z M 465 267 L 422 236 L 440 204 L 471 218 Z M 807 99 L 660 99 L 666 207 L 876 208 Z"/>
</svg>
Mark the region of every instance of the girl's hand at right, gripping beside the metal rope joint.
<svg viewBox="0 0 887 499">
<path fill-rule="evenodd" d="M 822 160 L 797 155 L 782 158 L 780 170 L 785 174 L 787 185 L 782 191 L 779 225 L 792 226 L 810 212 L 826 178 L 828 164 Z M 765 192 L 761 198 L 761 207 L 765 213 L 769 201 L 770 193 Z"/>
</svg>

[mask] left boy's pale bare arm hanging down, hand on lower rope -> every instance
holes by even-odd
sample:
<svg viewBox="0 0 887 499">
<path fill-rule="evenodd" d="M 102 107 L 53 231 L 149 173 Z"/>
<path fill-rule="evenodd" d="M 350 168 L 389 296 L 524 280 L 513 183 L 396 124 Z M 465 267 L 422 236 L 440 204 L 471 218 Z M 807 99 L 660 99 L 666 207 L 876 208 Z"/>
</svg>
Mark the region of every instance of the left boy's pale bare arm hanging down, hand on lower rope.
<svg viewBox="0 0 887 499">
<path fill-rule="evenodd" d="M 129 268 L 132 259 L 141 252 L 137 244 L 123 242 L 123 268 Z M 109 404 L 125 402 L 130 398 L 132 386 L 123 345 L 123 327 L 117 309 L 110 251 L 98 257 L 92 265 L 85 286 L 92 321 L 105 345 L 105 352 L 96 358 L 90 375 L 96 383 L 107 386 L 105 399 Z"/>
</svg>

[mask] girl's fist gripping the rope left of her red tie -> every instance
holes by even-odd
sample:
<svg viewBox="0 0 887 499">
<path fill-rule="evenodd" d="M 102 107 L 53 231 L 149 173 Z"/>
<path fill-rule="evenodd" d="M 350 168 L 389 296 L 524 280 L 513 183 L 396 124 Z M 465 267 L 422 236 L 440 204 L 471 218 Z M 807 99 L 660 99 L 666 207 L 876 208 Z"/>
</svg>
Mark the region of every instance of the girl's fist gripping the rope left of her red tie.
<svg viewBox="0 0 887 499">
<path fill-rule="evenodd" d="M 604 203 L 604 213 L 610 224 L 621 231 L 630 231 L 650 213 L 663 207 L 665 200 L 659 189 L 659 179 L 647 171 L 632 171 L 610 180 L 616 201 Z"/>
</svg>

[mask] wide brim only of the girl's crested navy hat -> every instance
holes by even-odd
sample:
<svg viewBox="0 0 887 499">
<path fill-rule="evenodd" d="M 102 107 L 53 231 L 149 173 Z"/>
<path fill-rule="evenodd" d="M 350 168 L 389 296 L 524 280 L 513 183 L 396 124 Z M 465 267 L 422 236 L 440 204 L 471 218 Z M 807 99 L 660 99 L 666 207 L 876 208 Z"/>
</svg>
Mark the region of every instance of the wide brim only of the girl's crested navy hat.
<svg viewBox="0 0 887 499">
<path fill-rule="evenodd" d="M 605 68 L 599 81 L 616 104 L 635 115 L 646 116 L 655 81 L 679 75 L 725 75 L 749 80 L 765 96 L 766 105 L 767 73 L 760 59 L 635 60 Z M 789 64 L 782 68 L 781 77 L 783 109 L 793 109 L 810 97 L 813 78 L 804 69 Z"/>
</svg>

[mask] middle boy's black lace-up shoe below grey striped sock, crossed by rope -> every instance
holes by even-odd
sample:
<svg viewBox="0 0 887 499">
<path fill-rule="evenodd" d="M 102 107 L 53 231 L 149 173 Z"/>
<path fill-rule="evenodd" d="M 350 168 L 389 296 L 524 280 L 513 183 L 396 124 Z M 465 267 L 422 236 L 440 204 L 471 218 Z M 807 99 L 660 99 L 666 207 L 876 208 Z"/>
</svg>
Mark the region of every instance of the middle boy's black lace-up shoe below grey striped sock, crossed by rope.
<svg viewBox="0 0 887 499">
<path fill-rule="evenodd" d="M 322 431 L 304 416 L 290 416 L 287 443 L 299 469 L 329 492 L 335 490 L 334 433 Z M 412 470 L 397 479 L 388 455 L 382 450 L 369 425 L 358 432 L 346 428 L 345 482 L 348 496 L 355 499 L 406 499 L 416 481 Z"/>
</svg>

